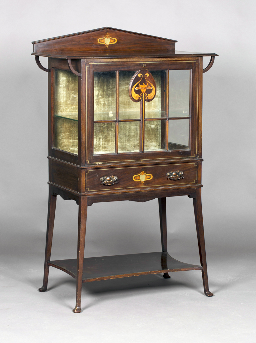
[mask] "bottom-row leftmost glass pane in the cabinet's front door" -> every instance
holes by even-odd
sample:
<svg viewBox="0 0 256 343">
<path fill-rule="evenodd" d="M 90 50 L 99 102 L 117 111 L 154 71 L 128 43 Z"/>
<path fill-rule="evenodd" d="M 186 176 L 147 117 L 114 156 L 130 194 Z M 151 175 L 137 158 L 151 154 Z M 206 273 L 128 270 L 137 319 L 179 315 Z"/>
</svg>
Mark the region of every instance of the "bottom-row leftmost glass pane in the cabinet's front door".
<svg viewBox="0 0 256 343">
<path fill-rule="evenodd" d="M 93 154 L 115 152 L 115 122 L 94 123 Z"/>
</svg>

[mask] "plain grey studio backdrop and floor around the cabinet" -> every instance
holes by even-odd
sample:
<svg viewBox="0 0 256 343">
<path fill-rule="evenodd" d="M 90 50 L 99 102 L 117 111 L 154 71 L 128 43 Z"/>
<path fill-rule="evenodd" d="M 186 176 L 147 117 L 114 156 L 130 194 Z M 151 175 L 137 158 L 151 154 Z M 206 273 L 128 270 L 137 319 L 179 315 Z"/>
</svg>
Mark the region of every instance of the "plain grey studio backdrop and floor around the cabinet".
<svg viewBox="0 0 256 343">
<path fill-rule="evenodd" d="M 9 1 L 1 5 L 1 336 L 12 342 L 253 342 L 255 331 L 255 1 Z M 83 285 L 50 269 L 47 73 L 33 40 L 111 26 L 215 52 L 203 74 L 202 204 L 209 287 L 200 271 Z M 41 58 L 46 67 L 46 58 Z M 205 58 L 205 66 L 209 58 Z M 52 259 L 76 258 L 78 206 L 57 198 Z M 199 264 L 192 200 L 167 198 L 168 251 Z M 85 257 L 160 250 L 157 199 L 88 208 Z"/>
</svg>

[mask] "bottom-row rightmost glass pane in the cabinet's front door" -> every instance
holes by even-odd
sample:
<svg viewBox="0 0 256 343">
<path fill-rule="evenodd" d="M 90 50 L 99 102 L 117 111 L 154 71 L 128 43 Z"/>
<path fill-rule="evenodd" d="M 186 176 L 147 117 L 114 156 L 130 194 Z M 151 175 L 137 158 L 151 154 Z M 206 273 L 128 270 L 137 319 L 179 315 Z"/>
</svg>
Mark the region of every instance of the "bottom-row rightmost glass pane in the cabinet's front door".
<svg viewBox="0 0 256 343">
<path fill-rule="evenodd" d="M 188 149 L 189 119 L 169 120 L 168 150 Z"/>
</svg>

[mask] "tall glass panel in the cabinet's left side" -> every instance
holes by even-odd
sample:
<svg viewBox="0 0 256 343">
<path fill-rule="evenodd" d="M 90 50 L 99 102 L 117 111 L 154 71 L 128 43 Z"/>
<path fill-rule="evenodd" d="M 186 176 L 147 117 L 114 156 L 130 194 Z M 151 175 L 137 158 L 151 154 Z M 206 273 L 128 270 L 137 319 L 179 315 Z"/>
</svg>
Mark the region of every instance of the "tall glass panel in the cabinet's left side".
<svg viewBox="0 0 256 343">
<path fill-rule="evenodd" d="M 78 154 L 78 76 L 54 72 L 54 147 Z"/>
</svg>

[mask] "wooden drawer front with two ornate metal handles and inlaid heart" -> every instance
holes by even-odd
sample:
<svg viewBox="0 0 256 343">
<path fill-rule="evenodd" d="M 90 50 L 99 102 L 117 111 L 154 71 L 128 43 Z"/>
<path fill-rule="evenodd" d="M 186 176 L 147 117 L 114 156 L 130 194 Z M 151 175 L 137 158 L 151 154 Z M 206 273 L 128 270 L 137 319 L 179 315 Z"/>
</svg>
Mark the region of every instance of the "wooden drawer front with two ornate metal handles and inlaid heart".
<svg viewBox="0 0 256 343">
<path fill-rule="evenodd" d="M 183 171 L 180 179 L 175 175 L 168 179 L 168 172 Z M 117 176 L 118 183 L 114 185 L 102 185 L 100 178 Z M 86 173 L 86 191 L 113 190 L 123 188 L 148 188 L 157 186 L 179 186 L 198 183 L 198 164 L 182 163 L 168 164 L 147 167 L 123 167 L 123 168 L 104 168 L 88 170 Z"/>
</svg>

